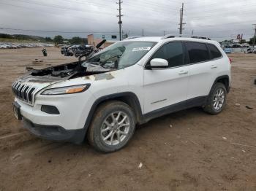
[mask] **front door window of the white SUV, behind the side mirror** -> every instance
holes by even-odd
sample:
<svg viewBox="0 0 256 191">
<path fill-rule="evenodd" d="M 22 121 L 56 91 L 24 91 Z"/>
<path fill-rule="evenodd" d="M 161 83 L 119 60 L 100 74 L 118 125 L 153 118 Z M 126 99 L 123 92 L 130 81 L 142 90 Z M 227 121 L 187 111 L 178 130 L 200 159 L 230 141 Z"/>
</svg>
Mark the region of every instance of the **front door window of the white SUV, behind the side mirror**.
<svg viewBox="0 0 256 191">
<path fill-rule="evenodd" d="M 182 42 L 170 42 L 157 50 L 151 57 L 162 58 L 168 61 L 169 67 L 182 66 L 184 65 L 184 52 Z"/>
</svg>

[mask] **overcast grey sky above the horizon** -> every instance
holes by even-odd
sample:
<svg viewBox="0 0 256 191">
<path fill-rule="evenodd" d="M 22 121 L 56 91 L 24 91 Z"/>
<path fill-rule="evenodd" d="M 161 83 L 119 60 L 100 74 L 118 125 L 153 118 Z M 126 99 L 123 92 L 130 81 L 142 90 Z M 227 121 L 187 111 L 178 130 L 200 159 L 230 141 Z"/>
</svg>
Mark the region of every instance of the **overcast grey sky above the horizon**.
<svg viewBox="0 0 256 191">
<path fill-rule="evenodd" d="M 0 0 L 0 33 L 65 38 L 118 34 L 116 1 Z M 182 3 L 185 35 L 216 40 L 254 35 L 255 0 L 123 0 L 122 30 L 129 36 L 142 36 L 142 31 L 145 36 L 178 34 Z"/>
</svg>

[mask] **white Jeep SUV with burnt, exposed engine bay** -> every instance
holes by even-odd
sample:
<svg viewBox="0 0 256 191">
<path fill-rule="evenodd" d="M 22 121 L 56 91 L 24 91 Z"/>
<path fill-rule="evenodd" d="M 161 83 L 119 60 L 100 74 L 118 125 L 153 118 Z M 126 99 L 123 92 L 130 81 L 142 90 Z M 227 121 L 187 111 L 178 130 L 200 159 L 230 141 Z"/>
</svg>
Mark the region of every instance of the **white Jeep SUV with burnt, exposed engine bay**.
<svg viewBox="0 0 256 191">
<path fill-rule="evenodd" d="M 230 61 L 217 42 L 178 36 L 116 42 L 87 61 L 28 74 L 12 84 L 13 109 L 45 139 L 113 152 L 135 125 L 195 106 L 219 114 L 230 89 Z"/>
</svg>

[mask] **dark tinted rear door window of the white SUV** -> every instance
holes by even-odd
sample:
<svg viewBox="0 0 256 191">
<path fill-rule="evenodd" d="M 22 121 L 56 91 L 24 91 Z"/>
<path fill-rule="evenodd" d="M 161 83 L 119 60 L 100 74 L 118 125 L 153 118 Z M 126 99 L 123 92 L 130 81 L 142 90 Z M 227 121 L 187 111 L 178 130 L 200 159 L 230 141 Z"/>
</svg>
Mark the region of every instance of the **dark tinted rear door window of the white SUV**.
<svg viewBox="0 0 256 191">
<path fill-rule="evenodd" d="M 199 63 L 210 60 L 210 55 L 206 44 L 200 42 L 186 42 L 187 52 L 189 52 L 190 63 Z"/>
</svg>

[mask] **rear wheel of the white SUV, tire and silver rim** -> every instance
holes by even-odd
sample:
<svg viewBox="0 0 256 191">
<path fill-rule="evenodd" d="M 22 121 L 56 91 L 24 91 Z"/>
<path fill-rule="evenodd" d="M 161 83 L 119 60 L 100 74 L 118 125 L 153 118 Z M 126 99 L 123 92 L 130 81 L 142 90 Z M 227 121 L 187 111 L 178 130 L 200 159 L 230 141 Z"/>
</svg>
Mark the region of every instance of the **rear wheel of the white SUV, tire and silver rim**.
<svg viewBox="0 0 256 191">
<path fill-rule="evenodd" d="M 208 95 L 206 106 L 203 110 L 208 114 L 219 114 L 224 109 L 227 103 L 227 90 L 225 85 L 217 82 L 211 87 L 211 92 Z"/>
</svg>

